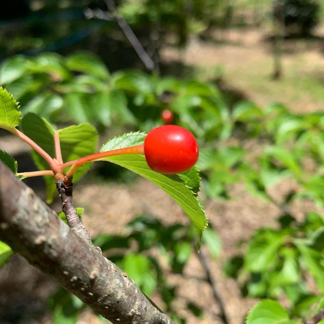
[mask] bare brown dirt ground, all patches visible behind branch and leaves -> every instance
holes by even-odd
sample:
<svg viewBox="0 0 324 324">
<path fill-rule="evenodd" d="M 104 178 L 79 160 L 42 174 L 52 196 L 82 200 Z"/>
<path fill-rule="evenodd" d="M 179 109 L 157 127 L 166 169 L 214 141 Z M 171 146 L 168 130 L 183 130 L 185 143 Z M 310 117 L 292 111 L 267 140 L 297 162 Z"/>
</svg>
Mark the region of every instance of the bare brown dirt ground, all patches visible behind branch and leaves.
<svg viewBox="0 0 324 324">
<path fill-rule="evenodd" d="M 267 84 L 272 87 L 272 81 L 266 79 L 271 72 L 272 63 L 267 45 L 263 42 L 263 34 L 260 34 L 257 30 L 245 32 L 244 35 L 232 32 L 227 39 L 232 43 L 204 43 L 202 45 L 193 42 L 181 52 L 165 49 L 163 58 L 166 61 L 181 59 L 185 64 L 204 67 L 222 64 L 225 66 L 224 77 L 230 84 L 246 92 L 249 98 L 256 100 L 261 105 L 272 101 L 272 94 L 280 94 L 280 87 L 284 84 L 275 86 L 273 92 L 268 91 L 269 88 L 266 87 Z M 238 41 L 239 45 L 236 44 Z M 293 66 L 295 55 L 297 55 L 298 60 L 300 58 L 305 62 L 304 69 L 307 71 L 324 68 L 324 58 L 318 48 L 312 50 L 303 48 L 294 56 L 285 53 L 284 64 Z M 265 62 L 267 64 L 264 64 Z M 302 72 L 300 69 L 301 66 L 298 65 L 298 73 Z M 245 76 L 240 78 L 240 73 Z M 247 87 L 249 86 L 249 78 L 253 79 L 260 74 L 263 75 L 261 79 L 264 79 L 266 84 L 257 88 L 260 91 L 254 92 L 253 88 Z M 287 95 L 290 93 L 292 95 Z M 314 99 L 312 96 L 309 97 L 307 91 L 299 99 L 294 96 L 294 87 L 290 86 L 282 91 L 279 99 L 283 102 L 289 99 L 287 103 L 296 111 L 323 108 L 323 102 Z M 25 154 L 28 150 L 25 145 L 18 143 L 12 136 L 0 137 L 0 147 L 14 155 Z M 29 185 L 36 188 L 36 192 L 44 198 L 44 190 L 40 189 L 42 183 L 29 182 Z M 273 188 L 273 197 L 280 201 L 283 193 L 288 192 L 289 188 L 294 185 L 290 181 L 281 183 Z M 233 199 L 229 201 L 204 199 L 204 206 L 209 216 L 209 222 L 219 233 L 223 246 L 219 259 L 210 259 L 215 286 L 226 305 L 226 314 L 230 319 L 230 324 L 241 324 L 247 311 L 256 300 L 243 299 L 240 296 L 237 282 L 224 277 L 221 270 L 222 262 L 240 252 L 242 248 L 237 248 L 237 241 L 250 237 L 255 229 L 261 226 L 277 226 L 275 220 L 280 215 L 280 211 L 274 205 L 252 197 L 242 184 L 236 185 L 230 193 L 234 197 Z M 113 182 L 97 182 L 94 184 L 87 177 L 75 186 L 74 197 L 75 204 L 85 208 L 83 220 L 92 236 L 102 232 L 123 233 L 124 225 L 136 214 L 143 213 L 155 215 L 164 224 L 175 222 L 188 224 L 181 208 L 166 193 L 144 179 L 140 179 L 132 185 Z M 52 206 L 55 210 L 60 209 L 57 201 Z M 304 213 L 310 210 L 317 211 L 317 208 L 308 201 L 295 203 L 292 207 L 292 212 L 299 219 L 302 219 Z M 212 291 L 209 285 L 201 280 L 204 274 L 196 255 L 192 255 L 186 265 L 184 276 L 170 273 L 168 266 L 165 267 L 165 272 L 168 281 L 178 286 L 179 298 L 176 300 L 175 306 L 179 313 L 187 318 L 188 324 L 221 323 L 216 316 L 218 308 L 213 299 Z M 22 323 L 14 321 L 14 319 L 12 321 L 1 319 L 1 314 L 6 313 L 6 309 L 10 307 L 16 307 L 15 311 L 18 313 L 22 310 L 27 312 L 30 316 L 29 323 L 51 323 L 48 312 L 44 311 L 44 301 L 55 291 L 56 287 L 57 285 L 52 280 L 29 266 L 21 257 L 15 256 L 0 271 L 0 323 Z M 159 296 L 153 296 L 152 299 L 163 308 Z M 187 299 L 203 308 L 204 317 L 202 319 L 186 312 L 184 300 Z M 78 324 L 86 323 L 97 324 L 100 322 L 91 311 L 85 310 L 80 315 Z"/>
</svg>

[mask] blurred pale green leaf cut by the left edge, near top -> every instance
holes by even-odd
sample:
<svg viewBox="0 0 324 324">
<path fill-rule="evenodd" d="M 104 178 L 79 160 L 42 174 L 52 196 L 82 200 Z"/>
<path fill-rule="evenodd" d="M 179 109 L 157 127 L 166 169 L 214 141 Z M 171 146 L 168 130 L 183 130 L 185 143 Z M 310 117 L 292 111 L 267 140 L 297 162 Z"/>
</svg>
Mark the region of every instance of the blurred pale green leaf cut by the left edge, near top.
<svg viewBox="0 0 324 324">
<path fill-rule="evenodd" d="M 17 80 L 26 72 L 26 70 L 26 59 L 22 55 L 9 58 L 1 64 L 0 85 Z"/>
</svg>

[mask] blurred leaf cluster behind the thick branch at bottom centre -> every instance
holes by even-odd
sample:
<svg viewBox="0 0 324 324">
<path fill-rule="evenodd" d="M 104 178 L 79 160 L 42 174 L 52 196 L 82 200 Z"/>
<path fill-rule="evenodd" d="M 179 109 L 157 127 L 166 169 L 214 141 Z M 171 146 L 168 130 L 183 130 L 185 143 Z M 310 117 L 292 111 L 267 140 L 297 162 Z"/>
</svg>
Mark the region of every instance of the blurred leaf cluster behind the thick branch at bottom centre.
<svg viewBox="0 0 324 324">
<path fill-rule="evenodd" d="M 173 306 L 177 298 L 177 285 L 169 284 L 164 273 L 167 267 L 168 272 L 183 275 L 185 265 L 195 253 L 192 244 L 194 228 L 179 223 L 164 226 L 154 216 L 142 215 L 127 224 L 126 231 L 126 235 L 100 234 L 93 242 L 148 297 L 159 294 L 168 315 L 176 323 L 184 324 L 185 319 L 177 314 L 177 309 Z M 203 242 L 210 254 L 217 257 L 220 240 L 210 227 L 204 231 Z M 154 251 L 158 251 L 158 255 Z M 192 300 L 185 300 L 185 304 L 195 316 L 203 316 L 203 310 Z M 75 323 L 78 314 L 85 307 L 79 299 L 62 289 L 50 298 L 50 306 L 55 324 Z"/>
</svg>

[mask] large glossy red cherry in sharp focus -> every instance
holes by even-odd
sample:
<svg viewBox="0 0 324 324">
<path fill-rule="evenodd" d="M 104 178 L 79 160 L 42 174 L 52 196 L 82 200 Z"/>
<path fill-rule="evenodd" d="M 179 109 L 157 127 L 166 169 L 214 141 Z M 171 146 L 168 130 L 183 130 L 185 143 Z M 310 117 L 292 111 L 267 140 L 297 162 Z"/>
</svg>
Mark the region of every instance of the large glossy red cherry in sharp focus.
<svg viewBox="0 0 324 324">
<path fill-rule="evenodd" d="M 159 173 L 181 173 L 198 160 L 198 145 L 194 136 L 176 125 L 152 129 L 144 141 L 144 153 L 149 167 Z"/>
</svg>

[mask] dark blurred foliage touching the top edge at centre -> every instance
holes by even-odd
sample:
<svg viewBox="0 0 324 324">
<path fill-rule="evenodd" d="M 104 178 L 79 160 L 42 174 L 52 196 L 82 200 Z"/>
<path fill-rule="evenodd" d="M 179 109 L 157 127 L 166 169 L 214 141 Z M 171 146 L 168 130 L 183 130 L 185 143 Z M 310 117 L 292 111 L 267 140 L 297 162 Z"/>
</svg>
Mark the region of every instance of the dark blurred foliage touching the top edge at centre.
<svg viewBox="0 0 324 324">
<path fill-rule="evenodd" d="M 155 47 L 168 43 L 167 36 L 176 36 L 175 44 L 183 45 L 189 36 L 210 27 L 223 0 L 126 0 L 118 6 L 120 14 L 140 37 L 154 41 Z M 152 35 L 153 33 L 153 35 Z M 152 39 L 153 38 L 153 39 Z"/>
</svg>

